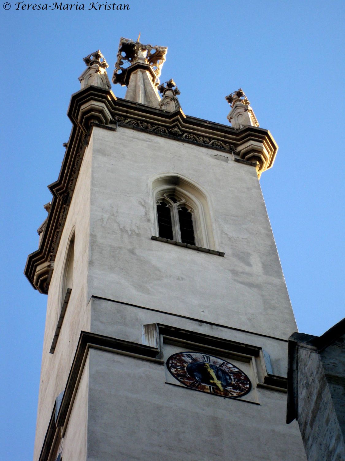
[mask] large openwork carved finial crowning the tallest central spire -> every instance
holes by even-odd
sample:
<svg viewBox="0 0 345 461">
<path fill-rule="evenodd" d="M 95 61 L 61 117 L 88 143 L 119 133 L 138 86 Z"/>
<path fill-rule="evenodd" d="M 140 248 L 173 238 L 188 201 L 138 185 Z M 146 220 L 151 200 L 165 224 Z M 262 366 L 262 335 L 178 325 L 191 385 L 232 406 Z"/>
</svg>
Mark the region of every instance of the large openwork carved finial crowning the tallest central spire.
<svg viewBox="0 0 345 461">
<path fill-rule="evenodd" d="M 143 45 L 140 41 L 121 37 L 113 74 L 113 83 L 128 86 L 129 79 L 126 78 L 128 77 L 127 68 L 133 64 L 142 63 L 149 64 L 152 67 L 154 71 L 154 83 L 158 85 L 158 77 L 161 75 L 161 67 L 165 61 L 166 54 L 167 47 Z"/>
</svg>

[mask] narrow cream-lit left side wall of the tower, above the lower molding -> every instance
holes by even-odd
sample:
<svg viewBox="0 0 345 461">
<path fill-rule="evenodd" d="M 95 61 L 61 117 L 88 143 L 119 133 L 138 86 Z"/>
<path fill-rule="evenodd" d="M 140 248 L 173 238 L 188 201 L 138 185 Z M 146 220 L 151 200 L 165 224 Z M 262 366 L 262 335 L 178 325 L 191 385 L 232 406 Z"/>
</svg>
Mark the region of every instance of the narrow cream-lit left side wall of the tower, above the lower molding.
<svg viewBox="0 0 345 461">
<path fill-rule="evenodd" d="M 80 332 L 81 330 L 87 331 L 90 327 L 86 282 L 89 254 L 91 154 L 92 141 L 86 149 L 81 164 L 49 286 L 34 460 L 37 460 L 40 455 L 55 399 L 65 388 Z M 49 354 L 61 310 L 60 291 L 62 290 L 63 264 L 73 229 L 75 229 L 73 288 L 54 354 Z"/>
</svg>

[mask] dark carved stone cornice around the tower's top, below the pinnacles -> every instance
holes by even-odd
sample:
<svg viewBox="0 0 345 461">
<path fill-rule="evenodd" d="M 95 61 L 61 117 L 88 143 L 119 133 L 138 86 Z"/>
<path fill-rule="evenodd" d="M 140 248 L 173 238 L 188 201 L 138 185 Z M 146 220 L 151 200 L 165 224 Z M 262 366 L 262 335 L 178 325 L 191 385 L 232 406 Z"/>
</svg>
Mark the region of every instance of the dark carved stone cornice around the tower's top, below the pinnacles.
<svg viewBox="0 0 345 461">
<path fill-rule="evenodd" d="M 82 158 L 93 126 L 116 130 L 121 127 L 142 130 L 179 142 L 234 154 L 247 165 L 256 165 L 258 176 L 273 165 L 277 145 L 268 130 L 246 126 L 241 130 L 147 106 L 117 99 L 109 89 L 88 85 L 71 97 L 68 116 L 72 122 L 69 141 L 57 181 L 48 189 L 53 198 L 39 249 L 29 254 L 24 274 L 40 293 L 48 293 L 63 226 L 67 217 Z"/>
</svg>

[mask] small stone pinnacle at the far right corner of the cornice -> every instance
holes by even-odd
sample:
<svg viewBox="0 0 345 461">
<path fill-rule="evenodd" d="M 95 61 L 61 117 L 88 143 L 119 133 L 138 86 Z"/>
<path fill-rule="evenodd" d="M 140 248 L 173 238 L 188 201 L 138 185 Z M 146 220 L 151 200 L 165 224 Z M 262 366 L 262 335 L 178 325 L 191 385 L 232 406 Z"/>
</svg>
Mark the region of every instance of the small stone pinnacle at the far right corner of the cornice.
<svg viewBox="0 0 345 461">
<path fill-rule="evenodd" d="M 234 93 L 225 96 L 225 99 L 231 106 L 227 119 L 236 130 L 243 128 L 244 126 L 259 126 L 259 122 L 255 117 L 253 109 L 250 107 L 250 102 L 247 96 L 243 93 L 240 88 Z"/>
</svg>

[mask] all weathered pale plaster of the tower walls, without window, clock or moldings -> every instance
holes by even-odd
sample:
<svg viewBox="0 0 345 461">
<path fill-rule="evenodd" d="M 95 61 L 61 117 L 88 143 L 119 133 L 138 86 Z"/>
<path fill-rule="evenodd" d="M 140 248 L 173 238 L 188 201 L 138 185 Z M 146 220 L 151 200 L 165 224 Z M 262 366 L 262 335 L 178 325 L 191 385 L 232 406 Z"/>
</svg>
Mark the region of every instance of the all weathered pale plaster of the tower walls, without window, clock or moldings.
<svg viewBox="0 0 345 461">
<path fill-rule="evenodd" d="M 275 338 L 288 339 L 296 325 L 257 172 L 215 153 L 136 130 L 93 128 L 49 289 L 35 460 L 82 330 L 141 343 L 142 325 L 173 325 L 264 348 L 273 372 L 286 376 L 287 343 Z M 151 240 L 150 179 L 162 173 L 207 191 L 224 257 Z M 73 288 L 50 355 L 73 229 Z M 114 460 L 114 453 L 128 461 L 223 460 L 229 453 L 248 461 L 305 460 L 296 425 L 285 425 L 282 392 L 258 388 L 254 405 L 165 384 L 164 367 L 150 361 L 95 349 L 89 360 L 65 436 L 75 447 L 65 438 L 63 458 L 84 459 L 87 439 L 90 461 Z M 81 427 L 69 428 L 78 418 Z"/>
</svg>

